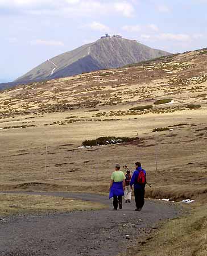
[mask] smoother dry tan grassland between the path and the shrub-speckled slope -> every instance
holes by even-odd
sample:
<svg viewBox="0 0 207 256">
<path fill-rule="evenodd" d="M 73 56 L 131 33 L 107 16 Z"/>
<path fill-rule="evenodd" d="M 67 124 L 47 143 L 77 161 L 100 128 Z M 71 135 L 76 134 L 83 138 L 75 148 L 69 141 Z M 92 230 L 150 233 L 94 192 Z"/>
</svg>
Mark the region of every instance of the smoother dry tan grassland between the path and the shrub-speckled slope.
<svg viewBox="0 0 207 256">
<path fill-rule="evenodd" d="M 198 199 L 206 194 L 205 122 L 205 111 L 193 110 L 185 115 L 146 115 L 101 125 L 92 121 L 63 127 L 1 130 L 0 188 L 106 192 L 114 163 L 127 164 L 133 169 L 134 163 L 140 160 L 152 184 L 152 189 L 147 188 L 148 197 Z M 155 127 L 172 127 L 177 123 L 189 125 L 152 133 Z M 102 146 L 98 150 L 78 148 L 84 139 L 100 135 L 136 137 L 137 134 L 143 139 L 141 143 Z M 48 146 L 46 170 L 45 143 Z"/>
</svg>

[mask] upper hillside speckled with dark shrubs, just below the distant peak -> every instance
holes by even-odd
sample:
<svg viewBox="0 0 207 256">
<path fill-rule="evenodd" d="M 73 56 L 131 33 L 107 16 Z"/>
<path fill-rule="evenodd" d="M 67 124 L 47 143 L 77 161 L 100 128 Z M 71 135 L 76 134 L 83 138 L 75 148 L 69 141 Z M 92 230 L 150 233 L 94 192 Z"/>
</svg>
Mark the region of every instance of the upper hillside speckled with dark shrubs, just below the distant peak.
<svg viewBox="0 0 207 256">
<path fill-rule="evenodd" d="M 207 102 L 206 55 L 202 49 L 125 68 L 18 85 L 0 93 L 0 114 L 2 118 L 76 111 L 84 115 L 85 109 L 90 111 L 87 117 L 103 118 L 188 110 L 189 103 Z M 154 104 L 166 98 L 172 104 Z M 143 105 L 151 108 L 131 110 Z"/>
</svg>

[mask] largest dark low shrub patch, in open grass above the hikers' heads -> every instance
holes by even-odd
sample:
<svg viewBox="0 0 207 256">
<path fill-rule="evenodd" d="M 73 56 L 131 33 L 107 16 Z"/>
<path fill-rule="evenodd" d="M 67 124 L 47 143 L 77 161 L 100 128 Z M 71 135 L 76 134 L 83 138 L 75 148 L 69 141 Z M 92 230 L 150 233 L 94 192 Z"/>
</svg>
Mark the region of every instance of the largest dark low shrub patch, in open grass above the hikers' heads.
<svg viewBox="0 0 207 256">
<path fill-rule="evenodd" d="M 108 145 L 108 144 L 118 144 L 118 143 L 127 143 L 134 141 L 137 138 L 129 138 L 129 137 L 114 137 L 114 136 L 109 136 L 109 137 L 99 137 L 97 139 L 89 139 L 85 140 L 82 142 L 82 146 L 84 147 L 93 147 L 98 144 L 98 146 L 102 145 Z"/>
</svg>

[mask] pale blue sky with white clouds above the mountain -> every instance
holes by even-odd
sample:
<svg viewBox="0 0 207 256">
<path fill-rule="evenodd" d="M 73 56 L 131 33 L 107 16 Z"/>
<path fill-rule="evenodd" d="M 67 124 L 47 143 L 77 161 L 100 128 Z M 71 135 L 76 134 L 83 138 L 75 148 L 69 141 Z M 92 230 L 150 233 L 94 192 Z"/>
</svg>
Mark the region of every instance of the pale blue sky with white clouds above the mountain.
<svg viewBox="0 0 207 256">
<path fill-rule="evenodd" d="M 105 33 L 177 53 L 207 47 L 207 0 L 0 0 L 0 82 Z"/>
</svg>

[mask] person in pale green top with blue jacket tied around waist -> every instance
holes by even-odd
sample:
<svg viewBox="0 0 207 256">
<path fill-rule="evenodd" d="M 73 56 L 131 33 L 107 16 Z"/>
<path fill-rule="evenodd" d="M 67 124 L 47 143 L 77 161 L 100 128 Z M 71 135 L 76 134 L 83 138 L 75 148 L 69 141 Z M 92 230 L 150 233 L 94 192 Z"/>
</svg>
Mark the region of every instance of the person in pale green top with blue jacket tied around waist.
<svg viewBox="0 0 207 256">
<path fill-rule="evenodd" d="M 111 175 L 111 182 L 109 188 L 109 198 L 113 197 L 114 210 L 117 210 L 118 205 L 119 209 L 122 209 L 122 196 L 124 195 L 125 190 L 125 174 L 120 171 L 120 165 L 115 165 L 115 171 Z"/>
</svg>

